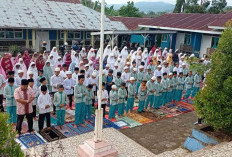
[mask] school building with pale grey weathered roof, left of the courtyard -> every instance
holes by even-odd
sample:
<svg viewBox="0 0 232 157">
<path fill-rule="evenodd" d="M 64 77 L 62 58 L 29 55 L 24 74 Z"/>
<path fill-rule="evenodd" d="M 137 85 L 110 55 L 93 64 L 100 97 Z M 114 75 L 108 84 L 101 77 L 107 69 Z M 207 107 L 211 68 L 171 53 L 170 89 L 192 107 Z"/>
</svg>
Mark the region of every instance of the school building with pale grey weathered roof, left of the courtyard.
<svg viewBox="0 0 232 157">
<path fill-rule="evenodd" d="M 74 42 L 91 45 L 91 32 L 100 30 L 100 13 L 79 0 L 0 0 L 0 52 L 11 45 L 47 50 Z M 128 30 L 106 17 L 105 30 Z"/>
</svg>

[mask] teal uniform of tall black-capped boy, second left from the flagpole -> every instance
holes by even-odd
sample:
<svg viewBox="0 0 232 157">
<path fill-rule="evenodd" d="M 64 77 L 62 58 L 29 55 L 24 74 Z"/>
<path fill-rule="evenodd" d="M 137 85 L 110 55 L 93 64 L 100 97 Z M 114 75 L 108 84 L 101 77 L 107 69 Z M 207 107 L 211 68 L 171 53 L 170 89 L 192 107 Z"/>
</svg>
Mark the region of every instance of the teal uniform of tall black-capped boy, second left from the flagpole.
<svg viewBox="0 0 232 157">
<path fill-rule="evenodd" d="M 84 124 L 85 119 L 85 96 L 86 87 L 79 83 L 74 87 L 74 102 L 75 104 L 75 124 Z"/>
</svg>

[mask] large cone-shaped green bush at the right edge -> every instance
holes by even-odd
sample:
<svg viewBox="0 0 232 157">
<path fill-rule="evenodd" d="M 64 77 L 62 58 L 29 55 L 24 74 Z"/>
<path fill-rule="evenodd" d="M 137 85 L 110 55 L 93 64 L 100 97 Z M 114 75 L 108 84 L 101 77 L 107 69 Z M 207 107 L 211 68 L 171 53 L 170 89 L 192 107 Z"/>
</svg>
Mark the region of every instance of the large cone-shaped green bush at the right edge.
<svg viewBox="0 0 232 157">
<path fill-rule="evenodd" d="M 232 21 L 231 21 L 232 22 Z M 196 95 L 197 114 L 216 130 L 232 132 L 232 28 L 227 24 L 219 45 L 211 56 L 206 86 Z"/>
</svg>

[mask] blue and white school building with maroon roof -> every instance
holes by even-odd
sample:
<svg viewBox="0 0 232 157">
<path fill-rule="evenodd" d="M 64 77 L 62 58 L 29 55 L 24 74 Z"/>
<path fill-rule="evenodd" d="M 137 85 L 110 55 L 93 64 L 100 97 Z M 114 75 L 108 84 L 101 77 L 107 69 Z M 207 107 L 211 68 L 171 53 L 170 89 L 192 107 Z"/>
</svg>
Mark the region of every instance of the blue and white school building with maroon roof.
<svg viewBox="0 0 232 157">
<path fill-rule="evenodd" d="M 121 21 L 130 30 L 160 30 L 173 33 L 152 34 L 147 37 L 146 47 L 156 45 L 179 49 L 183 53 L 195 53 L 203 57 L 218 46 L 225 24 L 232 19 L 232 11 L 226 14 L 167 13 L 156 18 L 111 17 Z M 131 42 L 144 44 L 142 36 L 132 35 Z"/>
</svg>

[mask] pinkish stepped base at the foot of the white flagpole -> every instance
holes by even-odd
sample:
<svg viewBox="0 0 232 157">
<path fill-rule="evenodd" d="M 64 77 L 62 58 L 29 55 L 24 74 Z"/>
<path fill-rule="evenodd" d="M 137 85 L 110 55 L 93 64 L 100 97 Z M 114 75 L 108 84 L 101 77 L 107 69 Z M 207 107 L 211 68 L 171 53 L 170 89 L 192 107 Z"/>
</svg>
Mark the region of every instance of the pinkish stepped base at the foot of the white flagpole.
<svg viewBox="0 0 232 157">
<path fill-rule="evenodd" d="M 79 157 L 117 157 L 118 151 L 106 141 L 86 140 L 78 147 Z"/>
</svg>

